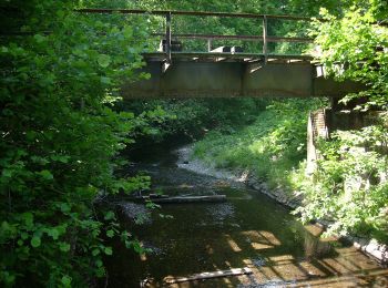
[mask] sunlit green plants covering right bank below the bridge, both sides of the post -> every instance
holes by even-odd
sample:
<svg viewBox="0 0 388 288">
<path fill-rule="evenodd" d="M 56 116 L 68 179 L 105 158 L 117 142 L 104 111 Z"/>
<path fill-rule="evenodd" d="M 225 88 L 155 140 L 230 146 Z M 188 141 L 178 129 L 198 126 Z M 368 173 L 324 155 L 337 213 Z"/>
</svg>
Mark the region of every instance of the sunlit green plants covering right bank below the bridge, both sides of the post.
<svg viewBox="0 0 388 288">
<path fill-rule="evenodd" d="M 194 157 L 218 168 L 248 172 L 248 184 L 328 233 L 348 236 L 385 261 L 387 244 L 387 121 L 359 131 L 335 131 L 319 141 L 321 157 L 306 175 L 308 112 L 318 100 L 272 101 L 252 124 L 219 127 L 195 143 Z M 249 182 L 251 179 L 251 182 Z M 254 181 L 252 181 L 254 179 Z M 299 206 L 299 207 L 298 207 Z M 377 240 L 366 240 L 377 239 Z M 369 247 L 370 246 L 370 247 Z"/>
</svg>

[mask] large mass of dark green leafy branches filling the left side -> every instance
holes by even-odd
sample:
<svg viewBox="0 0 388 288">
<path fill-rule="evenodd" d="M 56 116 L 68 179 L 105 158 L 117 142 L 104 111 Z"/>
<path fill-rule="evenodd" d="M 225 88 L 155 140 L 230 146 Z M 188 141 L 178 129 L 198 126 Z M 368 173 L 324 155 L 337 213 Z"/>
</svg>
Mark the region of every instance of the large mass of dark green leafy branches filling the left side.
<svg viewBox="0 0 388 288">
<path fill-rule="evenodd" d="M 35 34 L 0 42 L 0 285 L 88 286 L 113 253 L 104 238 L 133 243 L 94 199 L 150 181 L 114 176 L 141 123 L 110 105 L 136 80 L 147 24 L 76 14 L 72 1 L 10 4 Z"/>
</svg>

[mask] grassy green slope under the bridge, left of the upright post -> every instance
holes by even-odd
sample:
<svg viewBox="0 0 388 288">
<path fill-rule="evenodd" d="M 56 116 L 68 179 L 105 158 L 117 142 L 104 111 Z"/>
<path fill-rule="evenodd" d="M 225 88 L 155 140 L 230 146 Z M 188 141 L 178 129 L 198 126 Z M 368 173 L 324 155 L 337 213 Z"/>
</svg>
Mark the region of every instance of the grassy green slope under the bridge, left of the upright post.
<svg viewBox="0 0 388 288">
<path fill-rule="evenodd" d="M 218 130 L 195 144 L 195 156 L 218 167 L 249 169 L 270 186 L 292 188 L 294 171 L 306 155 L 308 110 L 317 100 L 267 103 L 256 121 L 241 130 Z"/>
</svg>

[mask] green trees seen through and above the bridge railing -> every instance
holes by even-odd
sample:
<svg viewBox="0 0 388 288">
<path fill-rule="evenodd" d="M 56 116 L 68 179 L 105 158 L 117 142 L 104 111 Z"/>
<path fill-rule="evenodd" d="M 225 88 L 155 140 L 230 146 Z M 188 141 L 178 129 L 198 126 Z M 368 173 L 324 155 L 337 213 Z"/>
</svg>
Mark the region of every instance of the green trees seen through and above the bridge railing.
<svg viewBox="0 0 388 288">
<path fill-rule="evenodd" d="M 344 1 L 346 2 L 346 1 Z M 312 1 L 264 1 L 264 0 L 216 0 L 216 1 L 155 1 L 145 0 L 137 3 L 137 7 L 145 9 L 170 9 L 188 11 L 217 11 L 235 13 L 259 13 L 259 14 L 296 14 L 305 17 L 317 17 L 319 7 L 338 10 L 338 1 L 325 0 L 319 6 Z M 150 21 L 155 24 L 157 32 L 163 31 L 164 19 L 151 17 Z M 173 33 L 202 33 L 202 34 L 235 34 L 235 35 L 262 35 L 263 27 L 259 19 L 236 19 L 217 17 L 173 17 Z M 284 21 L 270 19 L 268 21 L 268 35 L 279 37 L 304 37 L 306 35 L 308 22 Z M 207 43 L 203 40 L 182 40 L 186 51 L 206 51 Z M 261 53 L 263 43 L 237 40 L 215 40 L 214 48 L 222 45 L 239 45 L 245 52 Z M 300 43 L 269 43 L 272 53 L 300 53 L 308 45 Z"/>
</svg>

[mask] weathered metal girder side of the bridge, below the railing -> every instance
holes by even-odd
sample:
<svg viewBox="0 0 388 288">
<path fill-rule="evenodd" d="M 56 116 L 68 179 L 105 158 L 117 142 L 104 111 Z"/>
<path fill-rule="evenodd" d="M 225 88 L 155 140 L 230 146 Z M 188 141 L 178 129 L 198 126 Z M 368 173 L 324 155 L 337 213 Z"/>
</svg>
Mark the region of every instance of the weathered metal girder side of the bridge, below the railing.
<svg viewBox="0 0 388 288">
<path fill-rule="evenodd" d="M 340 97 L 363 90 L 360 83 L 324 76 L 310 56 L 212 52 L 144 54 L 141 72 L 151 74 L 122 89 L 124 99 L 279 96 Z"/>
</svg>

